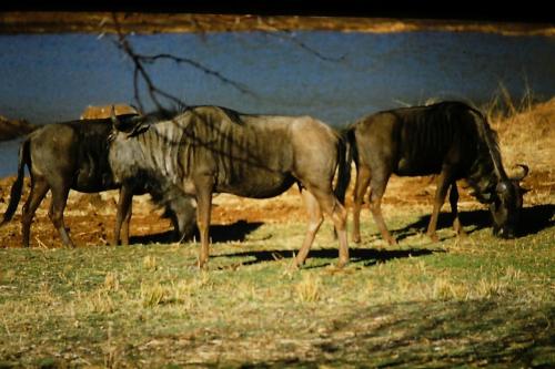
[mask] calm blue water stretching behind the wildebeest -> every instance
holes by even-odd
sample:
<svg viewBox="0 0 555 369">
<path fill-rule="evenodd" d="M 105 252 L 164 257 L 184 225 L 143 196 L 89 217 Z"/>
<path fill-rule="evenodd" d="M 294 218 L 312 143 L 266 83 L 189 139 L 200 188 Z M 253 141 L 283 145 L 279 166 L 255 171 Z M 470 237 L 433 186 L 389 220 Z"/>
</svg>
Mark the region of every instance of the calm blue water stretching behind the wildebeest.
<svg viewBox="0 0 555 369">
<path fill-rule="evenodd" d="M 252 92 L 242 93 L 188 63 L 147 65 L 157 86 L 188 104 L 310 114 L 334 126 L 430 99 L 481 104 L 500 86 L 515 100 L 528 89 L 539 100 L 555 95 L 555 38 L 313 31 L 294 33 L 292 42 L 281 35 L 172 33 L 129 41 L 140 53 L 199 61 Z M 89 104 L 133 103 L 132 63 L 110 35 L 4 34 L 0 50 L 0 115 L 42 124 L 78 119 Z M 17 146 L 0 142 L 1 176 L 16 173 Z"/>
</svg>

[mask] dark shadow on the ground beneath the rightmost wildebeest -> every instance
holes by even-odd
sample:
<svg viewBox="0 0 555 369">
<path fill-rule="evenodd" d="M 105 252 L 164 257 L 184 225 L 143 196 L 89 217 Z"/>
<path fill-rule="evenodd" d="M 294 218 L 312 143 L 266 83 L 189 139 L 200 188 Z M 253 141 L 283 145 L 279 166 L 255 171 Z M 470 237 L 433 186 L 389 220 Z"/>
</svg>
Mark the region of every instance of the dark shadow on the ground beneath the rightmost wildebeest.
<svg viewBox="0 0 555 369">
<path fill-rule="evenodd" d="M 488 211 L 470 211 L 460 212 L 461 223 L 467 234 L 473 232 L 492 228 L 492 216 Z M 519 229 L 517 230 L 518 237 L 537 234 L 543 229 L 549 228 L 555 225 L 555 205 L 535 205 L 523 208 L 521 215 Z M 416 235 L 418 232 L 426 232 L 427 224 L 430 223 L 430 215 L 421 216 L 416 222 L 406 225 L 403 228 L 393 229 L 392 235 L 397 240 Z M 437 229 L 451 228 L 453 224 L 453 216 L 451 212 L 443 212 L 437 219 Z M 454 236 L 453 236 L 454 237 Z"/>
</svg>

